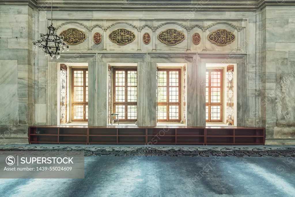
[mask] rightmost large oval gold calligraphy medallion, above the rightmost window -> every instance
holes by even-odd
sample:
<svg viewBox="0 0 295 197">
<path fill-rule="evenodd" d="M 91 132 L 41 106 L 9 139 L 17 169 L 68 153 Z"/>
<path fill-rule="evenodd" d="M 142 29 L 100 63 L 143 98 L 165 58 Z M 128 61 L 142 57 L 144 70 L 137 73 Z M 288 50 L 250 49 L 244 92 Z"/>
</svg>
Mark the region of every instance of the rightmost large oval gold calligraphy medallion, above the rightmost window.
<svg viewBox="0 0 295 197">
<path fill-rule="evenodd" d="M 218 29 L 208 35 L 208 40 L 217 46 L 226 46 L 235 40 L 235 35 L 226 29 Z"/>
</svg>

